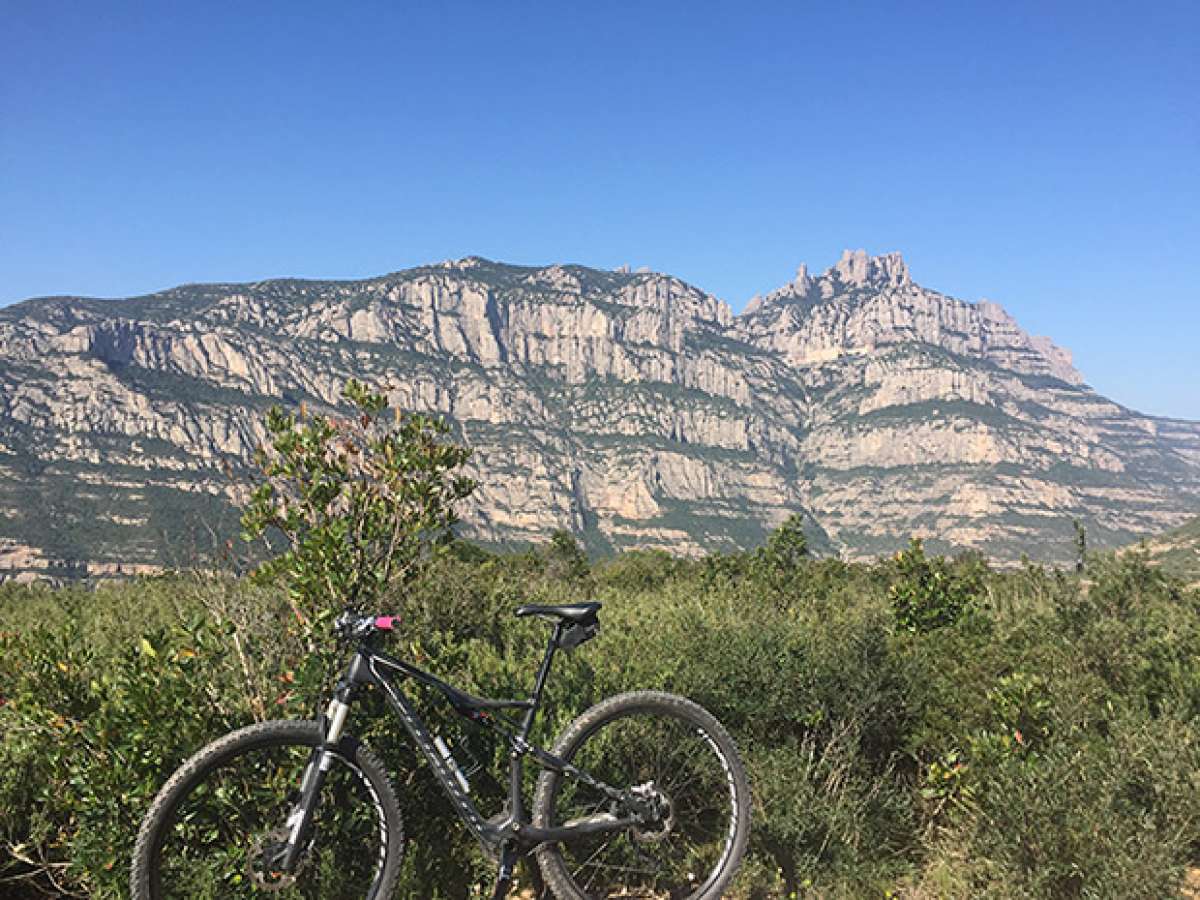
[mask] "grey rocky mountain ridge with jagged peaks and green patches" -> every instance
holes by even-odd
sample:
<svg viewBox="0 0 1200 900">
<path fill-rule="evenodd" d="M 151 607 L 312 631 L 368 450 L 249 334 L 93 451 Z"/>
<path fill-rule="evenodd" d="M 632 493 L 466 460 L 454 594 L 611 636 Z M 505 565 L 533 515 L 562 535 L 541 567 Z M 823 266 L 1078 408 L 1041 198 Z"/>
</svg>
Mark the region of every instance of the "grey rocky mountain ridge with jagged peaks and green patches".
<svg viewBox="0 0 1200 900">
<path fill-rule="evenodd" d="M 188 563 L 234 533 L 263 410 L 355 376 L 475 449 L 478 540 L 697 554 L 805 516 L 823 552 L 922 535 L 1068 559 L 1200 511 L 1200 424 L 1091 390 L 1000 306 L 846 252 L 740 316 L 656 272 L 467 258 L 0 310 L 0 569 Z"/>
</svg>

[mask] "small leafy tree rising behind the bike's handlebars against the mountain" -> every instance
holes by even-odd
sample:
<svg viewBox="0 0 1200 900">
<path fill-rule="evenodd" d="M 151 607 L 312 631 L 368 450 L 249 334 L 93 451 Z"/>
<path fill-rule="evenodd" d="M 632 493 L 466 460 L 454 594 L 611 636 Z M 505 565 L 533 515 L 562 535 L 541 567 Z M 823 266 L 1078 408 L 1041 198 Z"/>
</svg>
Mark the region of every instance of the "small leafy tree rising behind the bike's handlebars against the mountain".
<svg viewBox="0 0 1200 900">
<path fill-rule="evenodd" d="M 257 460 L 264 481 L 242 512 L 242 538 L 270 529 L 288 548 L 257 570 L 283 576 L 296 616 L 308 622 L 341 606 L 367 607 L 412 580 L 444 546 L 454 504 L 475 482 L 454 470 L 470 451 L 445 440 L 449 427 L 395 410 L 356 380 L 343 390 L 352 414 L 266 416 Z"/>
</svg>

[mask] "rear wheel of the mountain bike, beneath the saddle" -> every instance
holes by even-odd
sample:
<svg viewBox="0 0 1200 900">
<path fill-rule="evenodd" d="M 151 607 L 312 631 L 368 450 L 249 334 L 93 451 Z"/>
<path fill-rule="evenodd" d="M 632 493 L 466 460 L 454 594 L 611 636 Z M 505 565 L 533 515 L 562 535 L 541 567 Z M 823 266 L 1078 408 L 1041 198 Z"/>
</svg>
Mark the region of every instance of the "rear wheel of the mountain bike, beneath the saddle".
<svg viewBox="0 0 1200 900">
<path fill-rule="evenodd" d="M 540 847 L 538 865 L 559 900 L 722 895 L 750 834 L 750 782 L 708 712 L 670 694 L 622 694 L 571 722 L 553 752 L 659 809 L 637 827 Z M 605 815 L 620 818 L 622 810 L 582 780 L 551 770 L 539 778 L 535 824 Z"/>
</svg>

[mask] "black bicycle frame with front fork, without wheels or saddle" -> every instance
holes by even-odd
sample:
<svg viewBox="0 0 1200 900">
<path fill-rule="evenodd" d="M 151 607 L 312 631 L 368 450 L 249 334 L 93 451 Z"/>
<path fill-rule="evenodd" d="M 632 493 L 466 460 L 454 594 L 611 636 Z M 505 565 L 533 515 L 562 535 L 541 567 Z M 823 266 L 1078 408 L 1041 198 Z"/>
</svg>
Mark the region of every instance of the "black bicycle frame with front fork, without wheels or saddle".
<svg viewBox="0 0 1200 900">
<path fill-rule="evenodd" d="M 400 716 L 409 737 L 412 737 L 430 763 L 430 768 L 433 770 L 438 784 L 442 785 L 442 790 L 450 798 L 458 817 L 462 818 L 463 823 L 486 848 L 496 850 L 505 846 L 515 846 L 524 851 L 540 844 L 570 841 L 590 834 L 636 826 L 653 816 L 653 809 L 629 790 L 617 788 L 594 779 L 565 760 L 539 746 L 534 746 L 528 740 L 538 710 L 541 707 L 546 678 L 550 674 L 551 664 L 558 650 L 563 630 L 562 623 L 554 625 L 553 635 L 546 646 L 546 654 L 538 668 L 533 696 L 528 700 L 487 700 L 474 697 L 446 684 L 437 676 L 378 652 L 368 642 L 360 643 L 346 668 L 346 673 L 337 683 L 329 710 L 320 719 L 322 733 L 325 734 L 325 740 L 320 748 L 313 751 L 313 758 L 301 785 L 301 798 L 296 806 L 296 821 L 289 822 L 292 838 L 288 841 L 289 852 L 283 860 L 284 870 L 290 871 L 292 866 L 299 860 L 304 846 L 304 836 L 314 812 L 316 798 L 319 794 L 320 784 L 324 781 L 324 772 L 329 768 L 329 764 L 323 764 L 323 755 L 336 749 L 342 737 L 342 727 L 349 710 L 349 704 L 353 702 L 355 692 L 364 685 L 374 685 L 383 691 L 389 706 Z M 503 820 L 494 822 L 484 818 L 479 809 L 467 796 L 467 792 L 463 791 L 458 782 L 457 773 L 451 768 L 451 763 L 438 751 L 433 736 L 430 734 L 428 728 L 425 726 L 412 701 L 397 688 L 397 682 L 403 678 L 412 678 L 428 688 L 433 688 L 442 694 L 456 713 L 474 722 L 493 728 L 505 738 L 509 744 L 509 799 L 506 806 L 508 815 Z M 509 728 L 505 725 L 514 724 L 498 721 L 490 712 L 493 709 L 521 710 L 523 712 L 523 716 L 520 725 Z M 589 816 L 557 828 L 539 828 L 533 826 L 526 817 L 524 797 L 522 794 L 526 756 L 532 756 L 541 768 L 558 772 L 564 778 L 581 781 L 600 791 L 612 800 L 616 800 L 619 808 L 626 811 L 628 815 L 620 817 L 607 814 Z"/>
</svg>

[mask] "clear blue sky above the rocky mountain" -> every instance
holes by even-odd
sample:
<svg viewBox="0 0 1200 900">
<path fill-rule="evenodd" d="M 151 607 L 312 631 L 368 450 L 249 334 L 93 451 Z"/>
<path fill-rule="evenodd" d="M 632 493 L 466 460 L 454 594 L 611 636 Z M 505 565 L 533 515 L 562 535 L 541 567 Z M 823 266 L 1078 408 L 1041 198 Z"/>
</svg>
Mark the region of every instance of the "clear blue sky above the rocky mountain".
<svg viewBox="0 0 1200 900">
<path fill-rule="evenodd" d="M 0 5 L 0 302 L 844 247 L 1200 419 L 1194 2 Z"/>
</svg>

